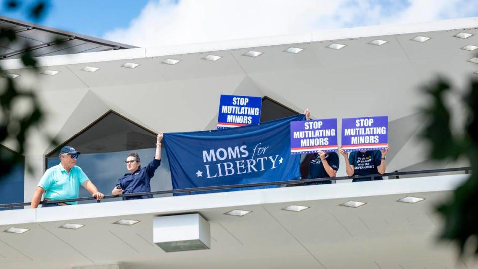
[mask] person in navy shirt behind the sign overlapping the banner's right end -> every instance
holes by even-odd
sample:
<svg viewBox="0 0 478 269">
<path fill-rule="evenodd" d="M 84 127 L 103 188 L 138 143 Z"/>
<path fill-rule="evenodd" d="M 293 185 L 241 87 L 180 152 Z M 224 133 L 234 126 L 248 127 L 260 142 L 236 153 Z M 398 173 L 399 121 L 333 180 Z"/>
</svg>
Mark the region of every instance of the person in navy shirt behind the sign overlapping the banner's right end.
<svg viewBox="0 0 478 269">
<path fill-rule="evenodd" d="M 305 119 L 310 120 L 310 110 L 304 111 Z M 309 162 L 309 173 L 307 178 L 325 178 L 335 177 L 339 170 L 339 155 L 336 152 L 324 152 L 319 150 L 314 154 L 314 158 Z M 330 184 L 332 181 L 319 181 L 307 183 L 306 185 Z"/>
</svg>

